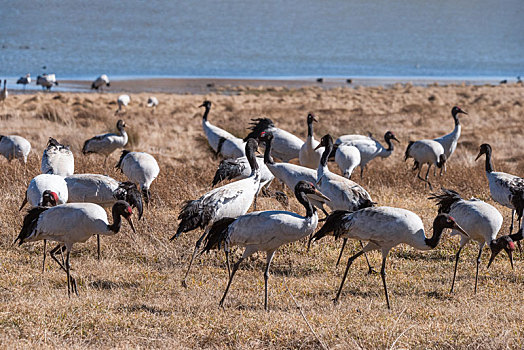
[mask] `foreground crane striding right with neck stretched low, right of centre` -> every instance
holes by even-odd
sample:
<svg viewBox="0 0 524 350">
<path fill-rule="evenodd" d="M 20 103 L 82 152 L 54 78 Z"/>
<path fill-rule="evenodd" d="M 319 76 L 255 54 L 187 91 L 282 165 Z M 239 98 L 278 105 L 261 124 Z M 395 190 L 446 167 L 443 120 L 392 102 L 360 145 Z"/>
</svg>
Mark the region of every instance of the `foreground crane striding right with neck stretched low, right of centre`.
<svg viewBox="0 0 524 350">
<path fill-rule="evenodd" d="M 433 236 L 426 237 L 424 224 L 417 214 L 401 208 L 392 207 L 373 207 L 365 208 L 353 213 L 346 211 L 336 211 L 326 220 L 322 228 L 313 236 L 318 240 L 327 234 L 335 237 L 347 237 L 368 241 L 368 244 L 361 251 L 348 259 L 346 271 L 337 296 L 333 301 L 338 302 L 342 287 L 346 280 L 349 268 L 353 261 L 366 252 L 380 250 L 382 253 L 382 268 L 380 275 L 384 285 L 386 303 L 390 309 L 388 289 L 386 286 L 386 258 L 391 248 L 404 243 L 417 250 L 434 249 L 445 228 L 451 228 L 468 235 L 456 222 L 453 217 L 447 214 L 439 214 L 433 221 Z"/>
</svg>

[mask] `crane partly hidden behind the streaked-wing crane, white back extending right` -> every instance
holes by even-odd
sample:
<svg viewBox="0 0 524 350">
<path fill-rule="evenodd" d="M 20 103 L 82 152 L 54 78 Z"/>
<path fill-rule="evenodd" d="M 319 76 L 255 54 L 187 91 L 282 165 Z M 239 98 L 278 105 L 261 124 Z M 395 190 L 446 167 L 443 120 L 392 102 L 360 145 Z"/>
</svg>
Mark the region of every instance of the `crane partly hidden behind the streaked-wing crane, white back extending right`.
<svg viewBox="0 0 524 350">
<path fill-rule="evenodd" d="M 306 181 L 315 183 L 317 181 L 317 172 L 311 168 L 306 168 L 301 165 L 292 163 L 276 163 L 271 154 L 273 153 L 273 133 L 271 131 L 262 131 L 258 136 L 259 141 L 264 142 L 264 164 L 269 171 L 282 183 L 284 183 L 290 191 L 294 191 L 295 186 L 299 181 Z M 322 210 L 327 216 L 328 212 L 324 209 L 324 202 L 320 198 L 309 198 L 311 203 Z"/>
</svg>

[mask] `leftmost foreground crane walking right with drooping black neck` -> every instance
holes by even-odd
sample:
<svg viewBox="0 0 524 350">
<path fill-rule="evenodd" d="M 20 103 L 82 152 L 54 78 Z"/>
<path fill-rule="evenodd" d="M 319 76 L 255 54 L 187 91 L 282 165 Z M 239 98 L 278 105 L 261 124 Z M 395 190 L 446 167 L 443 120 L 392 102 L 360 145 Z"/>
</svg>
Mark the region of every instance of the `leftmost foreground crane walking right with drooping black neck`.
<svg viewBox="0 0 524 350">
<path fill-rule="evenodd" d="M 116 202 L 112 214 L 113 223 L 109 224 L 104 208 L 93 203 L 62 204 L 52 208 L 36 207 L 24 217 L 24 224 L 15 242 L 19 241 L 20 245 L 43 239 L 58 242 L 50 251 L 50 255 L 67 274 L 67 293 L 70 295 L 73 292 L 78 295 L 76 280 L 71 277 L 69 263 L 73 244 L 83 243 L 95 234 L 111 236 L 118 233 L 122 217 L 129 222 L 133 232 L 135 231 L 131 221 L 133 211 L 127 202 Z M 60 263 L 55 256 L 62 246 L 66 251 L 65 264 Z"/>
</svg>

